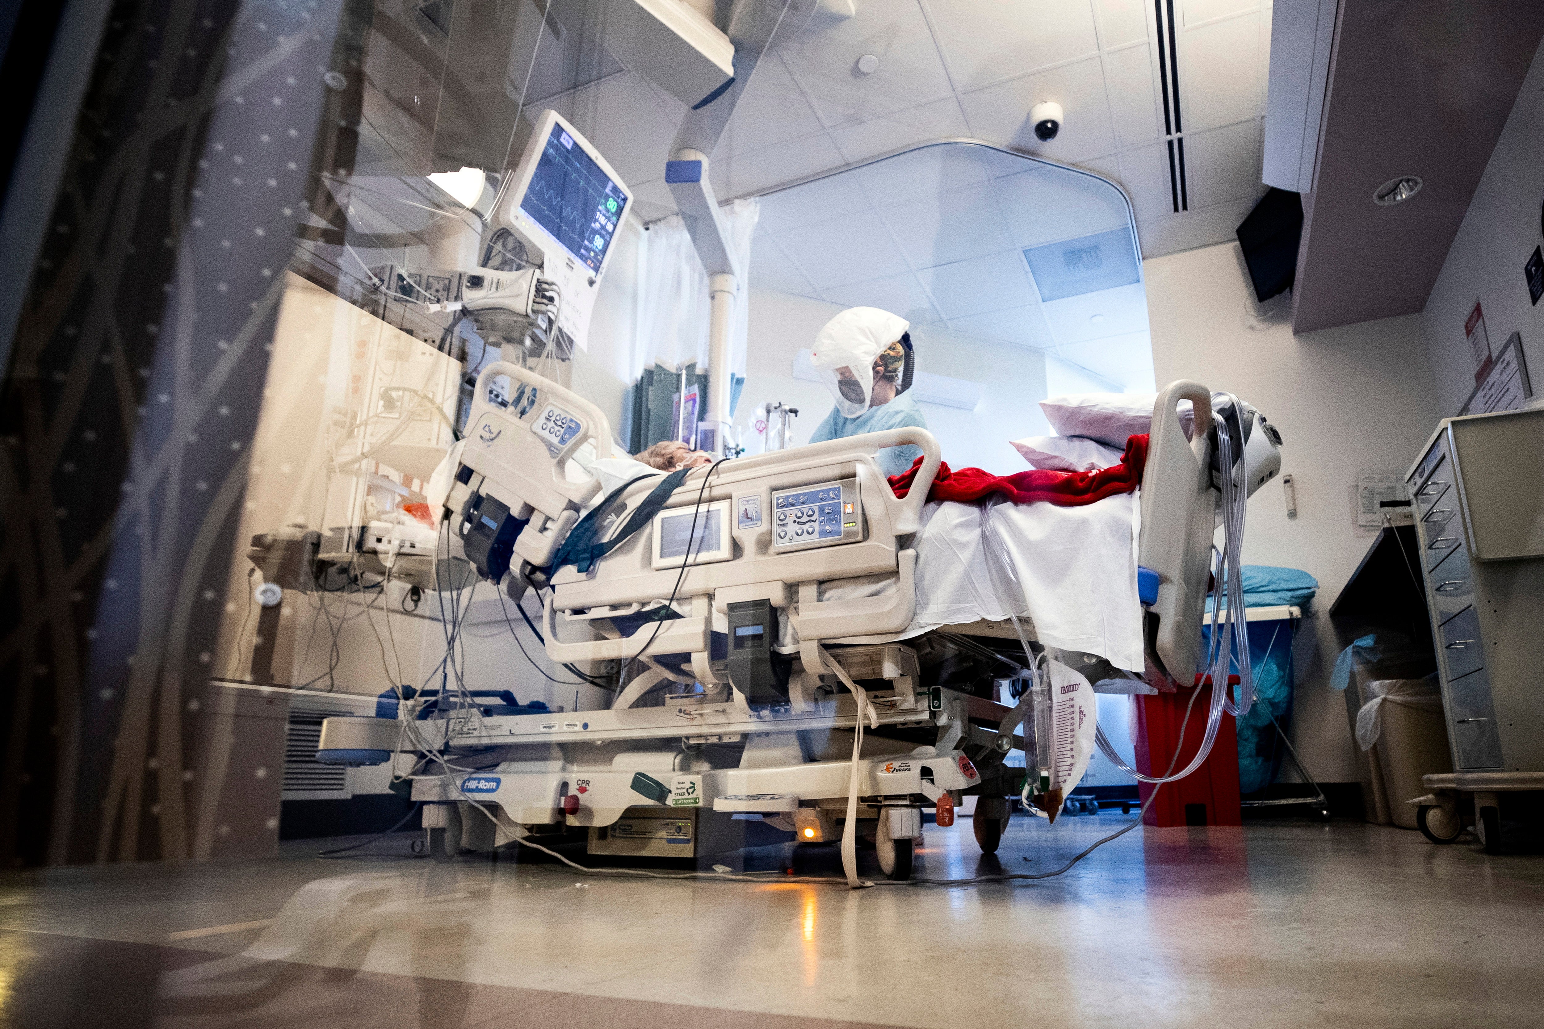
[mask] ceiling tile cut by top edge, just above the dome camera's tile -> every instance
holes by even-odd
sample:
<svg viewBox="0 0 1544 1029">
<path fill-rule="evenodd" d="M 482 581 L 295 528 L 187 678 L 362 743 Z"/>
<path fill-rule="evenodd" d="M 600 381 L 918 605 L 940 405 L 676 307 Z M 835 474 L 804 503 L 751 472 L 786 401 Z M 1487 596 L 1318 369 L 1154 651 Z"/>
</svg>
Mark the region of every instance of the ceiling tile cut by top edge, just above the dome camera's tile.
<svg viewBox="0 0 1544 1029">
<path fill-rule="evenodd" d="M 954 86 L 965 93 L 1099 49 L 1089 3 L 925 0 Z"/>
</svg>

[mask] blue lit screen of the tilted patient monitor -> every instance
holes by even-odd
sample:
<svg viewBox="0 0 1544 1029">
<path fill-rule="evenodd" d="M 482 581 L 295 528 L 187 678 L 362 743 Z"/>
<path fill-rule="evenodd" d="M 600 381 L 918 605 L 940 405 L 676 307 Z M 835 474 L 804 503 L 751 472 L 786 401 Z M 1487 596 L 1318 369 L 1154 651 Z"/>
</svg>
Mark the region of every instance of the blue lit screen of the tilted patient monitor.
<svg viewBox="0 0 1544 1029">
<path fill-rule="evenodd" d="M 574 145 L 562 125 L 554 125 L 520 210 L 594 273 L 605 261 L 624 207 L 627 194 L 621 187 Z"/>
</svg>

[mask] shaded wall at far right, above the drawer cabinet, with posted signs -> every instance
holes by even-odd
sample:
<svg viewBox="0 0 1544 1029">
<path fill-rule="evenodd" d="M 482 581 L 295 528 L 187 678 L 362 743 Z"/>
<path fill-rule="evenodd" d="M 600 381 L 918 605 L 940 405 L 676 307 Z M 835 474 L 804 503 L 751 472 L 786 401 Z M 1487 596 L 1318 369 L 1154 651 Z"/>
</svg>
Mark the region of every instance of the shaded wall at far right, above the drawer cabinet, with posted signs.
<svg viewBox="0 0 1544 1029">
<path fill-rule="evenodd" d="M 1532 304 L 1522 276 L 1533 247 L 1544 242 L 1541 193 L 1544 48 L 1533 57 L 1507 127 L 1448 248 L 1442 273 L 1427 298 L 1427 341 L 1437 378 L 1437 412 L 1444 418 L 1456 415 L 1475 389 L 1464 322 L 1476 299 L 1485 312 L 1492 352 L 1499 350 L 1513 332 L 1521 332 L 1535 395 L 1544 386 L 1544 301 L 1538 307 Z M 1419 202 L 1420 197 L 1411 201 Z"/>
</svg>

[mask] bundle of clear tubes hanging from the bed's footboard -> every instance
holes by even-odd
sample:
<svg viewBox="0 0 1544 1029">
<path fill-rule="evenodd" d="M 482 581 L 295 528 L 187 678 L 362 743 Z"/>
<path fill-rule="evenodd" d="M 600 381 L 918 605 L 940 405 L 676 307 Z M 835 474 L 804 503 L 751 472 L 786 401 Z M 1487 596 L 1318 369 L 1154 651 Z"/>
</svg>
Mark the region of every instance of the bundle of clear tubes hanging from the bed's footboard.
<svg viewBox="0 0 1544 1029">
<path fill-rule="evenodd" d="M 1232 401 L 1231 413 L 1221 413 L 1217 410 L 1220 404 L 1215 400 L 1227 398 Z M 1226 406 L 1224 406 L 1226 407 Z M 1254 705 L 1254 671 L 1249 666 L 1249 636 L 1244 622 L 1244 588 L 1243 588 L 1243 545 L 1244 545 L 1244 515 L 1248 512 L 1249 494 L 1244 489 L 1243 469 L 1235 469 L 1235 460 L 1243 458 L 1243 426 L 1240 423 L 1241 404 L 1237 398 L 1217 393 L 1214 395 L 1212 406 L 1212 426 L 1217 435 L 1217 463 L 1215 469 L 1220 469 L 1215 475 L 1215 486 L 1221 491 L 1221 506 L 1223 506 L 1223 549 L 1218 551 L 1212 546 L 1212 585 L 1207 589 L 1207 606 L 1212 612 L 1212 631 L 1207 639 L 1206 653 L 1206 682 L 1212 685 L 1210 707 L 1206 717 L 1206 734 L 1201 737 L 1201 747 L 1195 751 L 1195 757 L 1181 768 L 1178 773 L 1166 776 L 1144 776 L 1136 771 L 1115 751 L 1110 741 L 1104 734 L 1104 728 L 1099 727 L 1095 739 L 1099 744 L 1099 750 L 1104 756 L 1118 767 L 1126 774 L 1132 776 L 1138 782 L 1173 782 L 1175 779 L 1183 779 L 1197 768 L 1201 767 L 1210 753 L 1212 744 L 1217 742 L 1217 731 L 1223 724 L 1223 713 L 1232 714 L 1235 717 L 1243 717 L 1249 713 Z M 1238 668 L 1238 700 L 1234 702 L 1227 696 L 1227 676 L 1232 666 Z M 1201 685 L 1195 688 L 1200 690 Z"/>
</svg>

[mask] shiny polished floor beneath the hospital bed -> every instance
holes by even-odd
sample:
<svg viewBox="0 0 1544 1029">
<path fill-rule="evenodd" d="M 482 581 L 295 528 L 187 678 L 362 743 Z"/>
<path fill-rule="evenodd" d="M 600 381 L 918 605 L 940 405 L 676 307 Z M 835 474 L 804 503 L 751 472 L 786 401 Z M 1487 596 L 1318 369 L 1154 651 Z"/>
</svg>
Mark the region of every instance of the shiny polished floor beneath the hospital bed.
<svg viewBox="0 0 1544 1029">
<path fill-rule="evenodd" d="M 985 859 L 929 825 L 919 875 L 1124 822 L 1014 818 Z M 0 876 L 0 1026 L 1544 1024 L 1544 858 L 1397 828 L 1136 828 L 1056 879 L 862 892 L 317 849 Z"/>
</svg>

